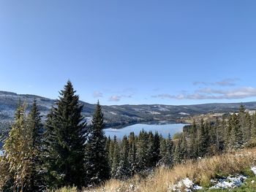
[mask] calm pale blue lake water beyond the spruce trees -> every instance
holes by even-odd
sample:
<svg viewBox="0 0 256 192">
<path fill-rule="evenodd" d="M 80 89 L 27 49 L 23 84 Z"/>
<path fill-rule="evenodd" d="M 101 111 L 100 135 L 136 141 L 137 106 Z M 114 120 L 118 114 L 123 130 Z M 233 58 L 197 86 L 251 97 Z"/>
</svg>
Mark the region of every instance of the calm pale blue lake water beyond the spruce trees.
<svg viewBox="0 0 256 192">
<path fill-rule="evenodd" d="M 183 127 L 187 124 L 182 123 L 169 123 L 169 124 L 135 124 L 132 126 L 126 126 L 124 128 L 105 128 L 105 135 L 111 138 L 116 135 L 118 139 L 122 139 L 124 135 L 129 136 L 130 132 L 134 132 L 135 135 L 138 135 L 142 129 L 145 131 L 152 131 L 153 134 L 155 131 L 158 131 L 159 134 L 162 134 L 162 137 L 167 138 L 168 134 L 170 134 L 171 137 L 173 137 L 173 134 L 176 134 L 177 132 L 182 132 Z"/>
</svg>

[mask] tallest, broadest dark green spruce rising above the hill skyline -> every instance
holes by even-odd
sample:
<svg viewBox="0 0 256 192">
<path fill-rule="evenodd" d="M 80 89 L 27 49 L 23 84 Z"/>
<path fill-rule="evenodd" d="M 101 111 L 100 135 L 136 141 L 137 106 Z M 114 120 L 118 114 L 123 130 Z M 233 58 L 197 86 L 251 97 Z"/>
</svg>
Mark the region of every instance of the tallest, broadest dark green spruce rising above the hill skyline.
<svg viewBox="0 0 256 192">
<path fill-rule="evenodd" d="M 50 188 L 84 184 L 84 145 L 86 123 L 83 105 L 70 81 L 60 92 L 56 107 L 48 115 L 45 131 L 45 170 Z M 78 174 L 79 173 L 79 174 Z"/>
</svg>

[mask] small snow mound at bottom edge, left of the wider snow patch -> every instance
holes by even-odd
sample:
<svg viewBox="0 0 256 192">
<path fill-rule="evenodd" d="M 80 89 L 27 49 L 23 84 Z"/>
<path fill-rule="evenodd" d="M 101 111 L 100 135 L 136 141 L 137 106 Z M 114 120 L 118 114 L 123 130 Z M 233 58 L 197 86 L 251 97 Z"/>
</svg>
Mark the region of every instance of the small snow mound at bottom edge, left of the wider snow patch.
<svg viewBox="0 0 256 192">
<path fill-rule="evenodd" d="M 180 192 L 181 189 L 187 192 L 190 192 L 190 191 L 201 190 L 203 188 L 193 183 L 192 180 L 189 180 L 189 178 L 185 178 L 184 180 L 179 181 L 177 184 L 170 186 L 171 191 Z"/>
</svg>

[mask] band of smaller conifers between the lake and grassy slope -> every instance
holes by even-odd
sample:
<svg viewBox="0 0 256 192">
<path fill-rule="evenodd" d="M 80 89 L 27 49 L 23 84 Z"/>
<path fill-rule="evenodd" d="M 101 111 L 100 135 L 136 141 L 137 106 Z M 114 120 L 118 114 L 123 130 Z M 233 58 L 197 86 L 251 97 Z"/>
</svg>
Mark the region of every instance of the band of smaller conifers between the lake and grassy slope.
<svg viewBox="0 0 256 192">
<path fill-rule="evenodd" d="M 202 158 L 256 146 L 256 114 L 249 115 L 241 105 L 238 113 L 214 122 L 203 119 L 184 127 L 178 139 L 165 139 L 157 132 L 132 132 L 121 141 L 108 138 L 108 164 L 111 177 L 126 179 L 147 175 L 156 166 L 172 167 L 189 159 Z"/>
</svg>

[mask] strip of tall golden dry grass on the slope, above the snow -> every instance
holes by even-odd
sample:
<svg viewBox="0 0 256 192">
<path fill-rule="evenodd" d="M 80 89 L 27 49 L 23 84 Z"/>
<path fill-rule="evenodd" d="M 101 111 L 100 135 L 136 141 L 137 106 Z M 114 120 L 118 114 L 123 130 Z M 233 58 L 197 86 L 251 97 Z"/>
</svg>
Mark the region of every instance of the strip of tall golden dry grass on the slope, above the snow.
<svg viewBox="0 0 256 192">
<path fill-rule="evenodd" d="M 256 163 L 256 148 L 241 150 L 237 153 L 217 155 L 198 161 L 187 161 L 173 169 L 159 168 L 153 176 L 141 179 L 138 176 L 127 181 L 109 180 L 104 185 L 91 191 L 106 192 L 164 192 L 170 191 L 170 185 L 189 177 L 195 183 L 207 187 L 211 178 L 217 175 L 236 174 Z"/>
</svg>

